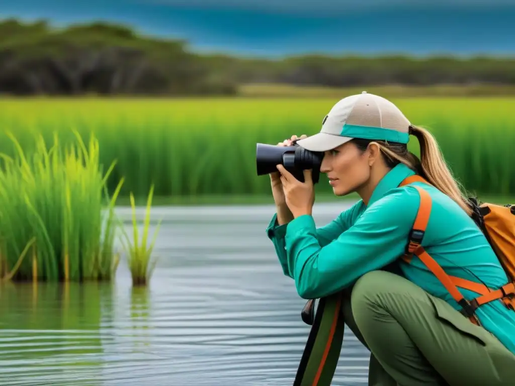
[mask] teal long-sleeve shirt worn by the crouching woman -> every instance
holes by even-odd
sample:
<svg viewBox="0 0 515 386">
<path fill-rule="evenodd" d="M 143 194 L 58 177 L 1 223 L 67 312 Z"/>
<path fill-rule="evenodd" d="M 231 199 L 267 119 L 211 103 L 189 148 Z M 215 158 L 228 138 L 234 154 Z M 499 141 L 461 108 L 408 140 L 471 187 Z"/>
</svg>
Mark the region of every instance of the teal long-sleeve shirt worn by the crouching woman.
<svg viewBox="0 0 515 386">
<path fill-rule="evenodd" d="M 402 274 L 454 308 L 460 307 L 417 258 L 399 260 L 415 222 L 420 196 L 413 186 L 399 187 L 413 170 L 399 164 L 373 191 L 368 205 L 358 201 L 329 224 L 317 228 L 312 216 L 278 225 L 277 214 L 267 227 L 285 275 L 295 280 L 304 299 L 317 299 L 353 284 L 367 272 L 398 264 Z M 422 246 L 450 275 L 482 282 L 493 289 L 508 282 L 499 260 L 474 221 L 433 186 L 415 183 L 432 198 L 431 216 Z M 415 185 L 412 184 L 412 185 Z M 460 289 L 467 299 L 477 294 Z M 501 302 L 477 311 L 479 320 L 515 353 L 515 312 Z"/>
</svg>

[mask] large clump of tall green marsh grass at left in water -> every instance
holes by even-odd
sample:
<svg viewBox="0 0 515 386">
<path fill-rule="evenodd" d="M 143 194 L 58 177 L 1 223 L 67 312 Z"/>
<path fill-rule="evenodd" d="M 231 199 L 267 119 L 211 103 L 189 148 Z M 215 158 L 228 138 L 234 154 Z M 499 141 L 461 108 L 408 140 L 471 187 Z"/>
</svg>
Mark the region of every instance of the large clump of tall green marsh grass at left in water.
<svg viewBox="0 0 515 386">
<path fill-rule="evenodd" d="M 4 280 L 109 280 L 119 258 L 114 252 L 114 204 L 120 181 L 107 203 L 102 197 L 115 163 L 103 173 L 99 143 L 63 147 L 54 135 L 47 149 L 36 136 L 25 152 L 12 133 L 13 157 L 1 154 L 0 277 Z"/>
</svg>

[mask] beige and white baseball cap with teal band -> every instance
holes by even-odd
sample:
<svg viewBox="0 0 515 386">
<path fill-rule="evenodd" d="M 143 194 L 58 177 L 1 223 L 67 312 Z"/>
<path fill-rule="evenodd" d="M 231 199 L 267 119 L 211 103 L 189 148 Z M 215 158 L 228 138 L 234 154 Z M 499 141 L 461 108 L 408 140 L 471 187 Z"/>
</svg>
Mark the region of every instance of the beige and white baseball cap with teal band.
<svg viewBox="0 0 515 386">
<path fill-rule="evenodd" d="M 364 91 L 339 100 L 323 119 L 320 132 L 297 144 L 311 151 L 328 151 L 354 138 L 407 144 L 409 127 L 397 106 Z"/>
</svg>

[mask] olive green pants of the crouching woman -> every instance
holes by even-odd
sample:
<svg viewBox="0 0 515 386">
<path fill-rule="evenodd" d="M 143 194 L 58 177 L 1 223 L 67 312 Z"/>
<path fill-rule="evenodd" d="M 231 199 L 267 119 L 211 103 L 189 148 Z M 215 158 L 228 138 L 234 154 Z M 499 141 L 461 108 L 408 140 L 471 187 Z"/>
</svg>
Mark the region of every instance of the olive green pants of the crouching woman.
<svg viewBox="0 0 515 386">
<path fill-rule="evenodd" d="M 370 386 L 515 385 L 515 355 L 404 277 L 365 274 L 345 293 L 342 312 L 371 352 Z"/>
</svg>

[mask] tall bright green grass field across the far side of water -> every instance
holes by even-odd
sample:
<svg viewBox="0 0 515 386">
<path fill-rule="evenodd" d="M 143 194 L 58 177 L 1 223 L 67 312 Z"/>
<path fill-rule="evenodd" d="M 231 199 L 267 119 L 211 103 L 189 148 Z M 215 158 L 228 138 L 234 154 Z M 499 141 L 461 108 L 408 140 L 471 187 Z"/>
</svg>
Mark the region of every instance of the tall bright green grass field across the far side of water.
<svg viewBox="0 0 515 386">
<path fill-rule="evenodd" d="M 152 182 L 156 203 L 191 197 L 223 202 L 227 195 L 267 197 L 268 177 L 256 176 L 256 142 L 315 134 L 339 98 L 8 99 L 0 100 L 0 127 L 12 131 L 26 151 L 33 147 L 33 133 L 49 142 L 54 131 L 61 142 L 74 139 L 72 129 L 85 141 L 95 133 L 104 170 L 116 161 L 109 189 L 124 177 L 121 196 L 133 191 L 137 203 L 145 202 Z M 391 100 L 411 122 L 435 134 L 469 191 L 488 197 L 515 192 L 515 98 Z M 0 135 L 0 151 L 13 154 L 11 142 Z M 409 147 L 418 153 L 415 139 Z M 324 179 L 317 193 L 331 194 Z"/>
</svg>

